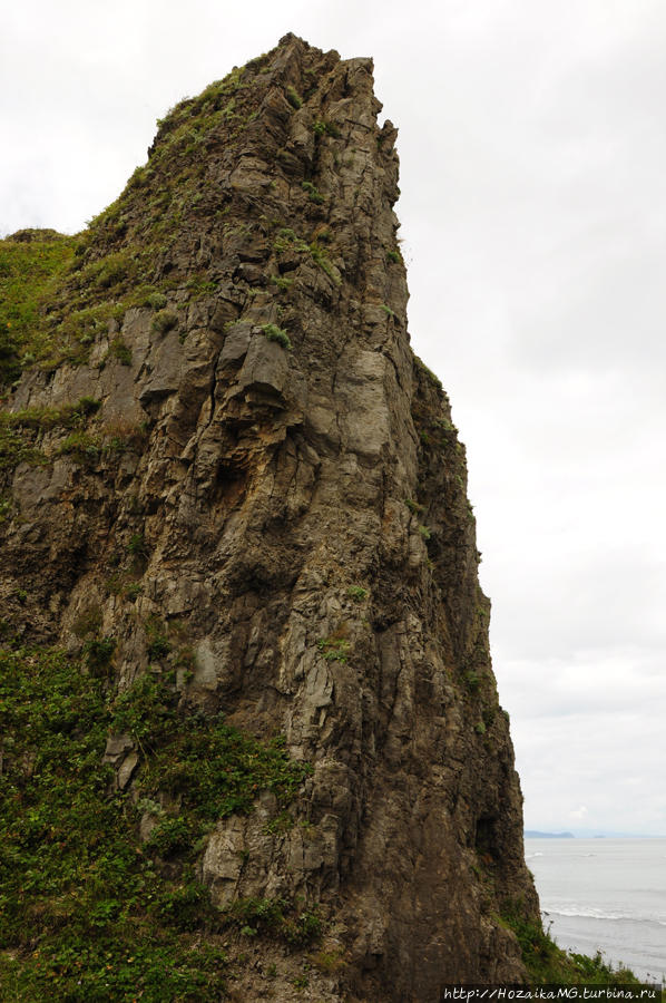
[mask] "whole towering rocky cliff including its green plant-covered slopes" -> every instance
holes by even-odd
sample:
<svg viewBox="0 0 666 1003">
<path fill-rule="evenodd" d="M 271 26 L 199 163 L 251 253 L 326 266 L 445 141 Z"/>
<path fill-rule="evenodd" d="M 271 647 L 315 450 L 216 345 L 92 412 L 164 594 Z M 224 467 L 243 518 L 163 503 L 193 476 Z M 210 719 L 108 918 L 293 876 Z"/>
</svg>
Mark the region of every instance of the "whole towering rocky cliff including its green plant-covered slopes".
<svg viewBox="0 0 666 1003">
<path fill-rule="evenodd" d="M 371 60 L 287 36 L 174 108 L 85 233 L 3 243 L 17 991 L 525 978 L 464 448 L 410 349 L 380 109 Z"/>
</svg>

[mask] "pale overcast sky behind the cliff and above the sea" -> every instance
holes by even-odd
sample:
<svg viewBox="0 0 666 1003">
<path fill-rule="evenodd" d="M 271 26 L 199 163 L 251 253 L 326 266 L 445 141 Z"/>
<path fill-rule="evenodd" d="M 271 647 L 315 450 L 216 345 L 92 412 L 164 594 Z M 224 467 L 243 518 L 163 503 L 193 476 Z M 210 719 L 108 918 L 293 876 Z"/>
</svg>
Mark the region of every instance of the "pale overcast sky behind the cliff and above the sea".
<svg viewBox="0 0 666 1003">
<path fill-rule="evenodd" d="M 468 446 L 526 825 L 666 834 L 663 0 L 22 0 L 0 234 L 80 230 L 155 119 L 294 31 L 373 56 L 410 330 Z"/>
</svg>

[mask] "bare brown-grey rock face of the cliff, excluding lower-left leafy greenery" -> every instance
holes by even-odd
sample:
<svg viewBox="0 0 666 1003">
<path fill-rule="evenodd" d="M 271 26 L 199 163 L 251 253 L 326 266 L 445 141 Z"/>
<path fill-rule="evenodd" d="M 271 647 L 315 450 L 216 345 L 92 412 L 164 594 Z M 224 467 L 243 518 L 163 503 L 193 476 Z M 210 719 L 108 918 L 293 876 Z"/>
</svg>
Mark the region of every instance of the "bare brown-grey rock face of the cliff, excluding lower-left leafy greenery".
<svg viewBox="0 0 666 1003">
<path fill-rule="evenodd" d="M 340 964 L 305 997 L 437 1003 L 520 981 L 498 914 L 538 905 L 464 450 L 409 347 L 380 108 L 370 60 L 287 36 L 164 120 L 47 304 L 58 364 L 8 399 L 2 591 L 25 637 L 112 637 L 121 691 L 160 662 L 183 713 L 283 733 L 312 776 L 285 825 L 267 791 L 218 821 L 213 902 L 316 906 Z M 130 796 L 143 750 L 115 736 L 107 756 Z M 270 948 L 244 951 L 238 999 L 259 999 Z M 295 971 L 275 999 L 304 997 Z"/>
</svg>

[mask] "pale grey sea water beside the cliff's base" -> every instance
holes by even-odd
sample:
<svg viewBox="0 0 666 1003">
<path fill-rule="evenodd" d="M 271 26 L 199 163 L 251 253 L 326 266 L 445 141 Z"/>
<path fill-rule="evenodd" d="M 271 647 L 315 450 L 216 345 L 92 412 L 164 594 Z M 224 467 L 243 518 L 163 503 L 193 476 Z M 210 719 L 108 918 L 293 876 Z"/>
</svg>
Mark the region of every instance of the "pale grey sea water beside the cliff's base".
<svg viewBox="0 0 666 1003">
<path fill-rule="evenodd" d="M 666 978 L 666 839 L 526 839 L 525 856 L 560 947 Z"/>
</svg>

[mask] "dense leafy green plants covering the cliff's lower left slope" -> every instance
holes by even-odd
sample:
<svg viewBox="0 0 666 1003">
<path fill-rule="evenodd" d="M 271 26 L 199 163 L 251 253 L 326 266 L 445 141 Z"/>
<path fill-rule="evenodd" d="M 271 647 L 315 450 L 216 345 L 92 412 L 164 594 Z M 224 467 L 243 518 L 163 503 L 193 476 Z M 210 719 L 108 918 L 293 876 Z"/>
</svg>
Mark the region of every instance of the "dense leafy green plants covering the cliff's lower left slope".
<svg viewBox="0 0 666 1003">
<path fill-rule="evenodd" d="M 116 695 L 114 650 L 111 637 L 90 639 L 81 659 L 0 650 L 3 1000 L 219 999 L 225 926 L 253 924 L 294 945 L 321 931 L 316 914 L 282 900 L 219 913 L 194 875 L 208 827 L 251 811 L 262 789 L 285 806 L 310 767 L 278 739 L 180 713 L 161 674 Z M 101 761 L 109 733 L 131 736 L 139 750 L 136 804 Z M 156 825 L 141 844 L 146 812 Z"/>
</svg>

